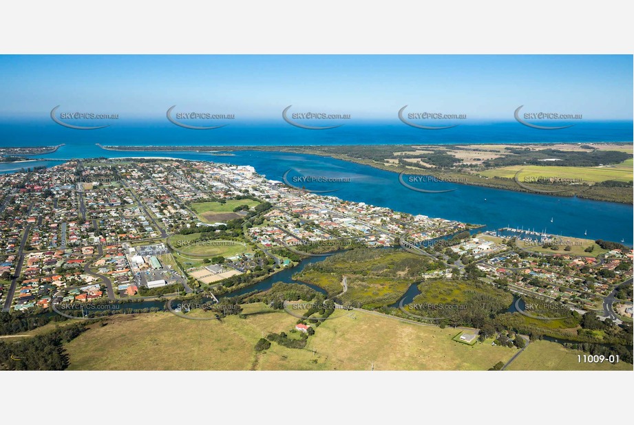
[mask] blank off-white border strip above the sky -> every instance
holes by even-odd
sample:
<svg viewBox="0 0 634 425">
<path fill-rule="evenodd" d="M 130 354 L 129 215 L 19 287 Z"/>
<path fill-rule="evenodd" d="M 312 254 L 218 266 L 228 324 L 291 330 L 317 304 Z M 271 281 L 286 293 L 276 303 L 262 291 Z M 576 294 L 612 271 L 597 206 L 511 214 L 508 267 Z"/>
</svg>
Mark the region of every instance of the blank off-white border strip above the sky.
<svg viewBox="0 0 634 425">
<path fill-rule="evenodd" d="M 62 0 L 2 9 L 6 54 L 634 52 L 631 3 L 615 0 Z"/>
</svg>

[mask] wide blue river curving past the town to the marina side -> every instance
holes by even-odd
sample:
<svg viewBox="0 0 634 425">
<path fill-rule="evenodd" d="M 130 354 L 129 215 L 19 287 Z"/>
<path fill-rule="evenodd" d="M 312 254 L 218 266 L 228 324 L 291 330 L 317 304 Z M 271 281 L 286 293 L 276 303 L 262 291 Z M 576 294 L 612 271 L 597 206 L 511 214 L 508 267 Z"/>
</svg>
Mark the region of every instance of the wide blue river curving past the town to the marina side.
<svg viewBox="0 0 634 425">
<path fill-rule="evenodd" d="M 455 189 L 445 193 L 421 193 L 403 186 L 399 175 L 370 166 L 329 157 L 275 151 L 237 151 L 226 155 L 196 152 L 124 152 L 107 151 L 94 144 L 85 149 L 61 146 L 55 153 L 42 155 L 38 162 L 21 166 L 47 165 L 54 158 L 75 157 L 178 157 L 227 164 L 250 165 L 268 179 L 287 181 L 311 190 L 337 190 L 327 195 L 348 201 L 385 206 L 396 211 L 430 217 L 484 224 L 494 230 L 511 226 L 546 231 L 553 235 L 623 241 L 633 244 L 633 207 L 627 204 L 592 201 L 576 197 L 558 197 L 483 188 L 446 182 L 405 182 L 430 190 Z M 12 168 L 15 168 L 13 164 Z M 299 177 L 328 177 L 335 182 L 301 182 Z"/>
</svg>

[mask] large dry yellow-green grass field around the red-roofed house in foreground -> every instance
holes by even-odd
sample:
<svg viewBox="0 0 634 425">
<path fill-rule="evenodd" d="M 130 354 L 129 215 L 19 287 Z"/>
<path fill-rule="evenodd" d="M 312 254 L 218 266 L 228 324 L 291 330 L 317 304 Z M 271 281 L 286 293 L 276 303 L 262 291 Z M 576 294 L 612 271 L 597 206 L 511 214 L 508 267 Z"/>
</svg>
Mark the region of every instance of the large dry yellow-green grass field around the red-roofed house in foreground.
<svg viewBox="0 0 634 425">
<path fill-rule="evenodd" d="M 113 316 L 91 325 L 65 345 L 71 370 L 486 370 L 516 349 L 474 347 L 452 340 L 456 329 L 414 325 L 390 316 L 337 310 L 304 349 L 272 342 L 268 333 L 290 332 L 297 318 L 261 303 L 244 305 L 246 318 L 185 320 L 173 314 Z M 204 314 L 191 312 L 189 314 Z"/>
</svg>

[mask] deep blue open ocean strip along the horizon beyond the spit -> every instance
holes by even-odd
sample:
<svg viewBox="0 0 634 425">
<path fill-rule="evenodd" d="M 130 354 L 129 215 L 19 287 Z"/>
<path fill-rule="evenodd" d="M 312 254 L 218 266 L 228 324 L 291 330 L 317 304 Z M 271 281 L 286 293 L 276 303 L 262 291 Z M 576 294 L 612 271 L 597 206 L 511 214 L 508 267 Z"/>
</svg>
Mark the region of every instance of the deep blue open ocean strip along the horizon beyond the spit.
<svg viewBox="0 0 634 425">
<path fill-rule="evenodd" d="M 280 118 L 281 121 L 281 118 Z M 81 123 L 80 123 L 81 124 Z M 434 123 L 436 124 L 436 123 Z M 85 124 L 84 124 L 85 125 Z M 438 123 L 441 125 L 441 123 Z M 512 122 L 460 124 L 445 130 L 421 130 L 399 120 L 344 124 L 337 129 L 305 130 L 284 122 L 229 124 L 215 130 L 189 130 L 165 121 L 112 122 L 98 130 L 67 129 L 52 120 L 0 121 L 1 146 L 70 144 L 76 149 L 103 145 L 328 145 L 328 144 L 447 144 L 632 142 L 631 121 L 579 122 L 560 130 L 539 130 Z"/>
</svg>

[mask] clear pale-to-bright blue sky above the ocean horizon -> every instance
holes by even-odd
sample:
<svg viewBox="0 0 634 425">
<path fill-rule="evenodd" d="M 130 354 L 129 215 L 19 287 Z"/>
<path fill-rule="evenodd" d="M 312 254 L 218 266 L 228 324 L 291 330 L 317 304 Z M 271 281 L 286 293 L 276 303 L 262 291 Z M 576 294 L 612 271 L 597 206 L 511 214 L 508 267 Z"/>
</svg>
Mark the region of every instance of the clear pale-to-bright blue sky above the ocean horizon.
<svg viewBox="0 0 634 425">
<path fill-rule="evenodd" d="M 279 120 L 282 109 L 512 120 L 530 111 L 632 120 L 632 56 L 0 56 L 0 113 L 52 107 L 164 119 L 181 111 Z"/>
</svg>

